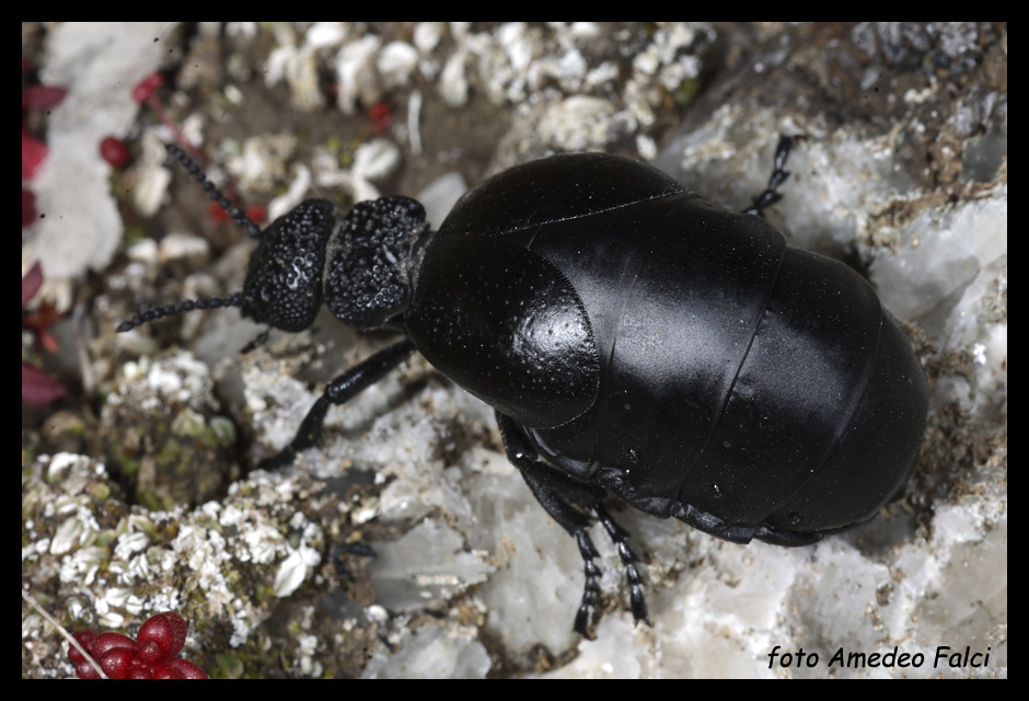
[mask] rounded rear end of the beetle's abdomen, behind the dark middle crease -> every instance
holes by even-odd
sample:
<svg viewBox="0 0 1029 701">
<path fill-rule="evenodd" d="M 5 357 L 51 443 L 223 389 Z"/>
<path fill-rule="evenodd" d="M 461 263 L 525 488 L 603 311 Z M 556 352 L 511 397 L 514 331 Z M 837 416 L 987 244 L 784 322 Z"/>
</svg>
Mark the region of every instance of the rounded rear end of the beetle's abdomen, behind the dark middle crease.
<svg viewBox="0 0 1029 701">
<path fill-rule="evenodd" d="M 679 499 L 730 525 L 787 531 L 867 520 L 910 472 L 926 397 L 871 288 L 837 261 L 790 249 Z"/>
</svg>

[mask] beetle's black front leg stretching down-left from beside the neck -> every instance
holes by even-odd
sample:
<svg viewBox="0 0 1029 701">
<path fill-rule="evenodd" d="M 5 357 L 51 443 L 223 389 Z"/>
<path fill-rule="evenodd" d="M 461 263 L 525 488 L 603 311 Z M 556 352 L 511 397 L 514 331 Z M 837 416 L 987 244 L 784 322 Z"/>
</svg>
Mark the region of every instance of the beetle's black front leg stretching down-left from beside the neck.
<svg viewBox="0 0 1029 701">
<path fill-rule="evenodd" d="M 388 348 L 383 348 L 329 382 L 328 387 L 325 388 L 325 392 L 317 398 L 308 415 L 300 422 L 300 428 L 290 444 L 282 448 L 278 455 L 258 462 L 257 468 L 274 470 L 285 467 L 293 461 L 298 452 L 314 446 L 322 435 L 322 425 L 325 423 L 325 414 L 328 412 L 329 406 L 343 404 L 357 397 L 403 363 L 414 349 L 414 344 L 405 338 Z"/>
</svg>

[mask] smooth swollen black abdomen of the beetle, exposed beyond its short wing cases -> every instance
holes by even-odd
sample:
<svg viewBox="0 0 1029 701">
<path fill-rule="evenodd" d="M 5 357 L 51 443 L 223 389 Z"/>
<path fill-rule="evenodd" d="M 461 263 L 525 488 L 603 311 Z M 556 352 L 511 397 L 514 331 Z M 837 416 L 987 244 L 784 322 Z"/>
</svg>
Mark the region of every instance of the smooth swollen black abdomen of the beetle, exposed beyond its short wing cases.
<svg viewBox="0 0 1029 701">
<path fill-rule="evenodd" d="M 601 254 L 577 256 L 591 238 Z M 524 427 L 551 462 L 641 510 L 786 544 L 867 520 L 906 479 L 925 379 L 843 263 L 685 194 L 554 222 L 528 245 L 582 297 L 602 367 L 589 412 Z"/>
</svg>

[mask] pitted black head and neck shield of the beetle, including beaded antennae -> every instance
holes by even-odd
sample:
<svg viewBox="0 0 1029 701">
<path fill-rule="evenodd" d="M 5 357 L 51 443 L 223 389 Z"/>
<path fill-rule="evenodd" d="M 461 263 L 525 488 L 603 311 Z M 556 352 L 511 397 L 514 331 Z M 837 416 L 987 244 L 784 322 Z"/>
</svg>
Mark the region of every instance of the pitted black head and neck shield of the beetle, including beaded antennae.
<svg viewBox="0 0 1029 701">
<path fill-rule="evenodd" d="M 382 326 L 407 308 L 412 244 L 428 230 L 419 203 L 407 197 L 358 203 L 334 239 L 332 203 L 309 199 L 262 230 L 206 179 L 185 151 L 174 145 L 167 150 L 259 243 L 242 291 L 153 307 L 123 322 L 119 333 L 165 317 L 219 307 L 239 307 L 244 317 L 269 329 L 298 332 L 314 323 L 323 291 L 332 312 L 358 329 Z M 243 352 L 267 337 L 265 331 Z"/>
</svg>

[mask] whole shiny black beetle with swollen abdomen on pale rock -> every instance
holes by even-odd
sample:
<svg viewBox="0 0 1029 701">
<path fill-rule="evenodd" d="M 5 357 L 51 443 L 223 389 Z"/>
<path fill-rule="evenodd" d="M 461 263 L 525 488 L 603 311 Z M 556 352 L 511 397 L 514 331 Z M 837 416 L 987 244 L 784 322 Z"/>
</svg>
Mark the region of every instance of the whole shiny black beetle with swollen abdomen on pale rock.
<svg viewBox="0 0 1029 701">
<path fill-rule="evenodd" d="M 496 410 L 508 458 L 576 538 L 575 630 L 589 634 L 599 590 L 594 514 L 647 620 L 609 494 L 732 542 L 805 545 L 872 518 L 918 450 L 928 390 L 897 321 L 853 269 L 788 248 L 755 216 L 779 198 L 791 143 L 742 214 L 644 163 L 576 153 L 487 180 L 439 231 L 419 203 L 384 197 L 356 205 L 336 235 L 323 199 L 261 231 L 170 146 L 259 244 L 241 292 L 158 307 L 118 331 L 232 306 L 296 332 L 324 296 L 350 326 L 402 332 L 333 380 L 261 467 L 313 446 L 332 404 L 417 349 Z"/>
</svg>

